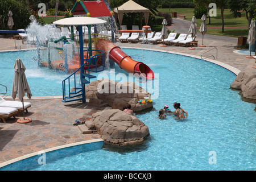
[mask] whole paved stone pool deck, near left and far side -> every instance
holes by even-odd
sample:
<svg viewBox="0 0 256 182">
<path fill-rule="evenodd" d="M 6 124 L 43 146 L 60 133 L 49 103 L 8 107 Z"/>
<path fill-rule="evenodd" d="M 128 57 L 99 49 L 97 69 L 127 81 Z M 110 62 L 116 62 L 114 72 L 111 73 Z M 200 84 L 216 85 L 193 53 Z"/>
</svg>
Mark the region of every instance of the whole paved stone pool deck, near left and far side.
<svg viewBox="0 0 256 182">
<path fill-rule="evenodd" d="M 190 22 L 184 22 L 175 20 L 174 24 L 168 28 L 180 33 L 187 33 L 188 29 L 186 26 L 189 26 Z M 183 23 L 187 25 L 185 26 Z M 200 32 L 198 32 L 196 40 L 199 41 L 200 45 L 202 42 Z M 246 69 L 256 72 L 256 69 L 251 68 L 256 66 L 255 59 L 246 59 L 245 56 L 247 55 L 234 53 L 237 40 L 237 38 L 226 36 L 205 35 L 204 45 L 207 47 L 196 47 L 193 50 L 188 49 L 188 47 L 161 47 L 161 44 L 118 42 L 115 44 L 121 48 L 154 49 L 156 51 L 181 53 L 196 57 L 200 57 L 202 53 L 216 47 L 218 55 L 215 60 L 235 68 L 238 72 L 245 71 Z M 16 41 L 18 41 L 17 44 L 22 50 L 27 48 L 26 45 L 22 44 L 21 40 Z M 17 50 L 14 46 L 14 39 L 0 37 L 0 42 L 0 51 Z M 205 57 L 210 55 L 216 57 L 216 49 L 205 54 Z M 212 57 L 210 58 L 212 59 Z M 6 96 L 5 99 L 11 100 L 10 97 Z M 81 134 L 78 126 L 73 126 L 73 123 L 75 119 L 90 119 L 93 113 L 105 108 L 94 108 L 81 102 L 63 103 L 60 97 L 32 97 L 31 100 L 24 97 L 24 101 L 31 102 L 32 104 L 28 109 L 28 113 L 25 113 L 26 117 L 32 119 L 31 123 L 17 123 L 16 120 L 20 117 L 7 119 L 6 123 L 0 122 L 0 165 L 11 159 L 52 147 L 100 139 L 98 134 Z"/>
</svg>

